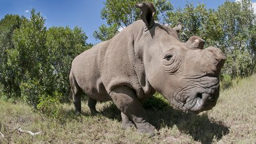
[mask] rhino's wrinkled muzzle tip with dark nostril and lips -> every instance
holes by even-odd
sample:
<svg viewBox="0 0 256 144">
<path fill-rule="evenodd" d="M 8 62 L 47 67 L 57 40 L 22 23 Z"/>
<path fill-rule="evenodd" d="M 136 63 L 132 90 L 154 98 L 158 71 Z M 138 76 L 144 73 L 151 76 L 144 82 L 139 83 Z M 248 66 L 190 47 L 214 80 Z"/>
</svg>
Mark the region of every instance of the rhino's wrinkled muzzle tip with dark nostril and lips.
<svg viewBox="0 0 256 144">
<path fill-rule="evenodd" d="M 206 92 L 207 91 L 207 92 Z M 219 82 L 211 88 L 204 91 L 191 94 L 185 99 L 182 110 L 184 112 L 200 113 L 215 107 L 219 97 Z"/>
</svg>

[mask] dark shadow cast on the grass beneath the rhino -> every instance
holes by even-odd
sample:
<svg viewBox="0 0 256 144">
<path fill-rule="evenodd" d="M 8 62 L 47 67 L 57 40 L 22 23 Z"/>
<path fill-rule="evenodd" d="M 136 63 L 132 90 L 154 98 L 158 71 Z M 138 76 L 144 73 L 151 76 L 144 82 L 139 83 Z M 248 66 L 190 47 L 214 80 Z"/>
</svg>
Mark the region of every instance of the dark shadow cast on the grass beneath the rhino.
<svg viewBox="0 0 256 144">
<path fill-rule="evenodd" d="M 157 99 L 156 102 L 151 105 L 151 108 L 146 107 L 146 111 L 149 121 L 158 130 L 165 126 L 171 128 L 176 125 L 181 132 L 187 133 L 201 143 L 212 143 L 213 139 L 220 140 L 229 133 L 229 127 L 221 121 L 210 121 L 207 113 L 201 116 L 186 114 L 180 110 L 175 110 L 171 105 L 162 107 L 161 104 L 165 102 L 160 99 Z M 113 103 L 106 105 L 101 114 L 110 119 L 121 121 L 120 111 Z"/>
</svg>

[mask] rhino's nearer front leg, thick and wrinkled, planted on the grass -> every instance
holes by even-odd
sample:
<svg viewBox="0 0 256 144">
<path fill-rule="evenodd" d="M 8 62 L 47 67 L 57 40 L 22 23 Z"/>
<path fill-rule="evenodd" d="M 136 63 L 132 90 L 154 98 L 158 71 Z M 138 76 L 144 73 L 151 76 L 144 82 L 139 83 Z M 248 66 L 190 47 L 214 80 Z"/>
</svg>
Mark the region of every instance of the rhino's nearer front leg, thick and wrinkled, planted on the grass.
<svg viewBox="0 0 256 144">
<path fill-rule="evenodd" d="M 135 123 L 139 133 L 154 133 L 155 127 L 148 122 L 146 111 L 133 89 L 126 86 L 117 87 L 110 92 L 110 97 L 117 108 Z M 123 121 L 127 121 L 127 117 L 122 116 Z"/>
</svg>

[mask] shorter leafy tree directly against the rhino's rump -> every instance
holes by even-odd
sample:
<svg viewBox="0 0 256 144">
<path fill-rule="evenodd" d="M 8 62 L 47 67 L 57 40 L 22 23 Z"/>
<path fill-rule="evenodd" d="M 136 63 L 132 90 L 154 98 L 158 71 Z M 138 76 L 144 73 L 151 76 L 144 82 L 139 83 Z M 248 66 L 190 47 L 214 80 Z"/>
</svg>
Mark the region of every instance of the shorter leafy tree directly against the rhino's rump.
<svg viewBox="0 0 256 144">
<path fill-rule="evenodd" d="M 47 83 L 54 88 L 52 92 L 60 92 L 64 100 L 69 98 L 69 71 L 73 58 L 91 47 L 86 40 L 86 34 L 78 27 L 73 30 L 69 27 L 52 27 L 47 31 L 47 61 L 52 68 Z"/>
</svg>

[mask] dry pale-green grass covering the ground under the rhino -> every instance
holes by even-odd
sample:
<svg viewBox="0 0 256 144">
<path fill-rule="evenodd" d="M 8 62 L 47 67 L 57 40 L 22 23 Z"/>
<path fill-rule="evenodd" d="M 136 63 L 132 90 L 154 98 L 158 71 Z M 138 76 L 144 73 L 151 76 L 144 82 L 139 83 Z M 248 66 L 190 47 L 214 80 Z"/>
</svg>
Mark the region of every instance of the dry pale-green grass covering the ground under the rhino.
<svg viewBox="0 0 256 144">
<path fill-rule="evenodd" d="M 72 104 L 63 104 L 60 120 L 35 113 L 22 102 L 0 101 L 0 143 L 256 143 L 256 75 L 220 92 L 216 107 L 198 115 L 184 114 L 161 98 L 147 106 L 156 127 L 154 137 L 135 128 L 121 129 L 120 111 L 112 102 L 97 104 L 101 114 L 92 116 L 85 103 L 76 115 Z M 159 97 L 159 95 L 158 95 Z M 31 132 L 20 133 L 17 127 Z"/>
</svg>

